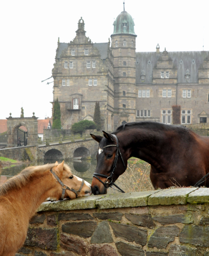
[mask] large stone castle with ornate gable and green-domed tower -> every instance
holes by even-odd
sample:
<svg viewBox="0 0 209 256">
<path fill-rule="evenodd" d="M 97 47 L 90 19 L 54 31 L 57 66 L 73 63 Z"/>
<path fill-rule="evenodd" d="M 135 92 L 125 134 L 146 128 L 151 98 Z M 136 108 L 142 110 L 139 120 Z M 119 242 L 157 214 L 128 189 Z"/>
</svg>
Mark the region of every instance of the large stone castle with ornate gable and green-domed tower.
<svg viewBox="0 0 209 256">
<path fill-rule="evenodd" d="M 76 37 L 60 43 L 52 76 L 63 129 L 83 119 L 93 121 L 100 103 L 102 130 L 120 124 L 155 121 L 165 124 L 209 122 L 209 52 L 135 52 L 130 14 L 114 21 L 107 43 L 85 36 L 84 20 Z"/>
</svg>

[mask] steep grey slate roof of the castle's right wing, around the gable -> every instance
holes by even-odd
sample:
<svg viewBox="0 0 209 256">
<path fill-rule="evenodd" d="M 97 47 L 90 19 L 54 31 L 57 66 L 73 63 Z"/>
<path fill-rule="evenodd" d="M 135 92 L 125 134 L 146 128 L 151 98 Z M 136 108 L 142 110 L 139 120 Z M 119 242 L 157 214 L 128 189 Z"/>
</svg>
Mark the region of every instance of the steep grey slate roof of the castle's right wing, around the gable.
<svg viewBox="0 0 209 256">
<path fill-rule="evenodd" d="M 161 56 L 162 52 L 136 52 L 136 84 L 141 83 L 142 70 L 146 75 L 145 83 L 152 83 L 152 70 Z M 174 68 L 177 68 L 178 83 L 198 83 L 198 69 L 207 58 L 208 51 L 168 52 L 168 56 L 172 59 Z M 185 78 L 187 69 L 189 81 Z"/>
</svg>

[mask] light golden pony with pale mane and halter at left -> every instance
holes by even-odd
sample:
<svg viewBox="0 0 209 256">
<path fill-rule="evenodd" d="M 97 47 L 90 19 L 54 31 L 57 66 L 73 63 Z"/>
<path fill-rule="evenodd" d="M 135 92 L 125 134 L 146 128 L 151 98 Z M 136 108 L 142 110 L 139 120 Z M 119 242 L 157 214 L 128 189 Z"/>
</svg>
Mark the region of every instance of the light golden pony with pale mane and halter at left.
<svg viewBox="0 0 209 256">
<path fill-rule="evenodd" d="M 91 185 L 73 175 L 64 161 L 27 167 L 6 181 L 0 186 L 0 256 L 15 255 L 25 242 L 29 220 L 47 197 L 91 194 Z"/>
</svg>

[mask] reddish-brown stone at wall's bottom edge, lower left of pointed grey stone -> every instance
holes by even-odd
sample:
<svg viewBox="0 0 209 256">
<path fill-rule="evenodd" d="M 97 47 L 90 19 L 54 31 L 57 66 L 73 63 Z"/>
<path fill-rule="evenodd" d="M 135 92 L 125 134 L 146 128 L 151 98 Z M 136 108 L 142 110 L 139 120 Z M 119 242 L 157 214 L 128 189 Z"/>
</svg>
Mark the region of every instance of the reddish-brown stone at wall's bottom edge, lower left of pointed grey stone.
<svg viewBox="0 0 209 256">
<path fill-rule="evenodd" d="M 78 255 L 86 255 L 86 245 L 82 239 L 75 239 L 73 237 L 66 236 L 65 234 L 61 234 L 60 241 L 60 245 L 63 249 L 75 252 Z"/>
</svg>

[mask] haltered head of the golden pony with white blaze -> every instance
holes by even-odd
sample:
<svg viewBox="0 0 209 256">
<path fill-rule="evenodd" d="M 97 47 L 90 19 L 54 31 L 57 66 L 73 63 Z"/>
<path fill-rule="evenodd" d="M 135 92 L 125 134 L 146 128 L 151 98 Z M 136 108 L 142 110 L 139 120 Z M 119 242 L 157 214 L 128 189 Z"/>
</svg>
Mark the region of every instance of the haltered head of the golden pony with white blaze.
<svg viewBox="0 0 209 256">
<path fill-rule="evenodd" d="M 72 199 L 75 197 L 90 196 L 92 194 L 90 183 L 73 175 L 68 165 L 64 164 L 64 161 L 61 164 L 58 164 L 58 162 L 55 164 L 57 165 L 52 168 L 51 173 L 57 179 L 57 186 L 62 191 L 63 198 L 69 197 Z"/>
</svg>

